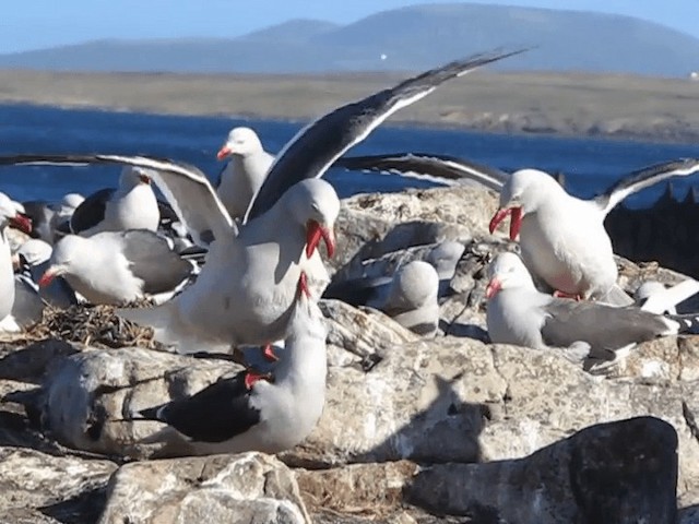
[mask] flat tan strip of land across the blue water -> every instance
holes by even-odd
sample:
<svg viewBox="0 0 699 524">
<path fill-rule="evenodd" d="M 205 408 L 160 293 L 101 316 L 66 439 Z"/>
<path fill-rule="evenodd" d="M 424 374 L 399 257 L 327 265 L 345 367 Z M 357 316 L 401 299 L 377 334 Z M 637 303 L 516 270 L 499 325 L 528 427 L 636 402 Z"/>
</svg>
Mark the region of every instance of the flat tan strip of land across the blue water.
<svg viewBox="0 0 699 524">
<path fill-rule="evenodd" d="M 0 70 L 0 104 L 304 122 L 406 76 Z M 484 71 L 445 85 L 387 124 L 692 143 L 699 141 L 699 82 Z"/>
</svg>

